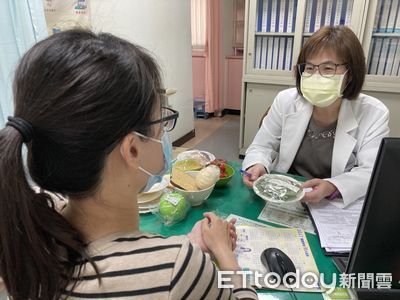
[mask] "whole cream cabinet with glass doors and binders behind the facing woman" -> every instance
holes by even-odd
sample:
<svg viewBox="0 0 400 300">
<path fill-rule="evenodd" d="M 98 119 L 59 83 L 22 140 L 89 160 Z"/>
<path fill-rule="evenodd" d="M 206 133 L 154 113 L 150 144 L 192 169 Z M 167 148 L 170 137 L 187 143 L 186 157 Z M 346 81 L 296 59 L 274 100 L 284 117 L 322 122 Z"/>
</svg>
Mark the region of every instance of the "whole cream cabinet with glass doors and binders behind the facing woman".
<svg viewBox="0 0 400 300">
<path fill-rule="evenodd" d="M 380 93 L 389 109 L 400 105 L 400 0 L 246 0 L 245 7 L 240 154 L 276 94 L 295 86 L 300 49 L 325 25 L 347 25 L 359 38 L 368 69 L 363 92 Z M 391 123 L 400 134 L 400 121 Z"/>
</svg>

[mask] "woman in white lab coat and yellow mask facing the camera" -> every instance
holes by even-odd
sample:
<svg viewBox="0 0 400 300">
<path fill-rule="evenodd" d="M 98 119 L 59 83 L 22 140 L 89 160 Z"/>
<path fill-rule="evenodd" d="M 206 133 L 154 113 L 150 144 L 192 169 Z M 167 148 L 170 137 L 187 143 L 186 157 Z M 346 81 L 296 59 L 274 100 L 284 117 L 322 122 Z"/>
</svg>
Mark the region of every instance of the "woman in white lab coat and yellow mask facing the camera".
<svg viewBox="0 0 400 300">
<path fill-rule="evenodd" d="M 365 56 L 345 26 L 323 27 L 305 43 L 295 66 L 296 88 L 280 92 L 243 161 L 252 187 L 271 171 L 309 178 L 303 201 L 337 199 L 344 207 L 365 196 L 389 111 L 361 94 Z"/>
</svg>

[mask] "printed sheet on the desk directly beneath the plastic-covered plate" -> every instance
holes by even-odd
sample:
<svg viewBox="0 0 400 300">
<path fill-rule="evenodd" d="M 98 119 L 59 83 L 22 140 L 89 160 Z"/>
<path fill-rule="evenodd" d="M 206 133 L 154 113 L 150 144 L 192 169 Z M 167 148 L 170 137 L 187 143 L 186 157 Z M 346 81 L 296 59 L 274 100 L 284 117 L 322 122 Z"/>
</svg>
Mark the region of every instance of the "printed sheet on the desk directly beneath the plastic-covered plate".
<svg viewBox="0 0 400 300">
<path fill-rule="evenodd" d="M 315 234 L 314 225 L 307 209 L 303 207 L 301 202 L 284 204 L 266 202 L 258 218 L 286 227 L 301 228 L 308 233 Z"/>
</svg>

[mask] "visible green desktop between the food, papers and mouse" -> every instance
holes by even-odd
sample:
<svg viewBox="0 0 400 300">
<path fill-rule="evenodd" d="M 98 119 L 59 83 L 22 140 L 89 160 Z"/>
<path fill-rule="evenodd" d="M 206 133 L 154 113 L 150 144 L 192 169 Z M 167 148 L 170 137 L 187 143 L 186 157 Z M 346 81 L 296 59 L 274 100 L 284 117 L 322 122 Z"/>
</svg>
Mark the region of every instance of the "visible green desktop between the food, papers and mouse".
<svg viewBox="0 0 400 300">
<path fill-rule="evenodd" d="M 191 231 L 193 225 L 198 220 L 203 218 L 203 213 L 206 211 L 213 211 L 222 218 L 226 218 L 229 214 L 236 214 L 248 219 L 263 222 L 258 220 L 257 217 L 264 208 L 265 201 L 255 195 L 253 190 L 247 188 L 242 183 L 239 172 L 240 165 L 238 163 L 230 164 L 235 169 L 235 175 L 228 185 L 223 188 L 215 188 L 210 198 L 202 206 L 193 207 L 185 220 L 168 227 L 164 226 L 155 215 L 141 215 L 140 229 L 164 236 L 186 234 Z M 275 224 L 270 225 L 279 227 Z M 338 274 L 338 270 L 334 266 L 332 259 L 323 254 L 317 236 L 309 233 L 306 233 L 306 235 L 319 272 L 324 273 L 326 278 L 325 282 L 331 283 L 332 274 Z M 290 256 L 290 253 L 288 254 Z M 264 291 L 260 291 L 260 293 L 263 292 Z M 271 295 L 273 294 L 274 299 L 291 299 L 288 292 L 268 291 L 268 293 Z M 296 293 L 296 296 L 299 300 L 323 299 L 320 293 Z"/>
</svg>

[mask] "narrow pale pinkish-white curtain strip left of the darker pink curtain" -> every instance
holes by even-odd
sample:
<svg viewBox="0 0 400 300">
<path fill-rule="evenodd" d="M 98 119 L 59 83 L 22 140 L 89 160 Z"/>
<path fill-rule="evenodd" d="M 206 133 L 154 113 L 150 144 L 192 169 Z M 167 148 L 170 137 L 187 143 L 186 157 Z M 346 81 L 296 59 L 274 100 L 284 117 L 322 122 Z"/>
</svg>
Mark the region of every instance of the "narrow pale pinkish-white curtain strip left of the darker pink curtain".
<svg viewBox="0 0 400 300">
<path fill-rule="evenodd" d="M 206 0 L 192 0 L 192 48 L 206 45 Z"/>
</svg>

